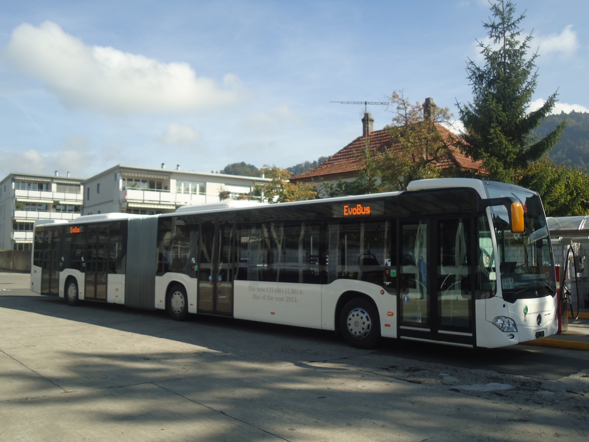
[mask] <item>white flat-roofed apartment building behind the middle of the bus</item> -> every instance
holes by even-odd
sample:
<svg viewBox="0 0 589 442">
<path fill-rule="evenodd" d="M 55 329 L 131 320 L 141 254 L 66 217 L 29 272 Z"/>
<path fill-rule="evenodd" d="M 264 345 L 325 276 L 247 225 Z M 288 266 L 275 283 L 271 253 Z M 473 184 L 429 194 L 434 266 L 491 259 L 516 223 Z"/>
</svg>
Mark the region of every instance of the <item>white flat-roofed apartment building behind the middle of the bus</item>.
<svg viewBox="0 0 589 442">
<path fill-rule="evenodd" d="M 186 204 L 252 199 L 267 178 L 118 164 L 84 180 L 82 215 L 170 213 Z"/>
</svg>

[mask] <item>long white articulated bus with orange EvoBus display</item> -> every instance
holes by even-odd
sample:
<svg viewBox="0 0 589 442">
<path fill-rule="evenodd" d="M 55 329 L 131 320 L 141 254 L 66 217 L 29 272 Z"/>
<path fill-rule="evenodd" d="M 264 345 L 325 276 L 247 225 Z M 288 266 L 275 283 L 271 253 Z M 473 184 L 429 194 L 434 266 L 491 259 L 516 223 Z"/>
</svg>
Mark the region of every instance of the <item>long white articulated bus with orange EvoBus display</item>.
<svg viewBox="0 0 589 442">
<path fill-rule="evenodd" d="M 360 348 L 380 337 L 492 348 L 557 331 L 540 197 L 475 179 L 38 222 L 31 288 L 71 305 L 334 330 Z"/>
</svg>

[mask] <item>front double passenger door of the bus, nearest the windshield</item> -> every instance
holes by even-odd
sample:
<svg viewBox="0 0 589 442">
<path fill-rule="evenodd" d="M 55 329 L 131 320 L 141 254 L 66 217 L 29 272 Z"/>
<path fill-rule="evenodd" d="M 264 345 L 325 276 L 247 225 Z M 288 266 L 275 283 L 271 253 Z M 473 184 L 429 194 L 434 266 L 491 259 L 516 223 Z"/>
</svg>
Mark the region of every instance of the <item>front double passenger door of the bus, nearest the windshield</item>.
<svg viewBox="0 0 589 442">
<path fill-rule="evenodd" d="M 471 219 L 400 226 L 399 336 L 472 344 Z"/>
</svg>

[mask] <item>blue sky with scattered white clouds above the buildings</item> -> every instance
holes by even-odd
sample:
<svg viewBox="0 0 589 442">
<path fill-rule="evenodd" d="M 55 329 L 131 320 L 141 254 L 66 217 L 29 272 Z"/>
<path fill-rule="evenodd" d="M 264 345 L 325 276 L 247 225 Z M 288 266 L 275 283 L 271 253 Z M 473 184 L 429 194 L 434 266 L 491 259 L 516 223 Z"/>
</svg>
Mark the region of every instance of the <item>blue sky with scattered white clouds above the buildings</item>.
<svg viewBox="0 0 589 442">
<path fill-rule="evenodd" d="M 538 49 L 535 107 L 589 111 L 589 2 L 515 1 Z M 403 91 L 472 100 L 484 0 L 0 0 L 0 179 L 115 164 L 293 166 L 362 134 Z M 391 108 L 369 105 L 375 129 Z"/>
</svg>

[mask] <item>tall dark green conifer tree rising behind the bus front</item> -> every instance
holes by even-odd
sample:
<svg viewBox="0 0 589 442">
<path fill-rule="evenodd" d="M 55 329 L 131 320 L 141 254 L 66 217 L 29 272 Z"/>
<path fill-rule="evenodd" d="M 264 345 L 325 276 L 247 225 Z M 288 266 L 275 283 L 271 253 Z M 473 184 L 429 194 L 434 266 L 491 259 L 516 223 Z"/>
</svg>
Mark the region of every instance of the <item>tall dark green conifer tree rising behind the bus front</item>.
<svg viewBox="0 0 589 442">
<path fill-rule="evenodd" d="M 478 42 L 485 64 L 479 67 L 468 60 L 466 65 L 473 102 L 457 105 L 465 127 L 466 153 L 483 161 L 491 179 L 518 182 L 528 164 L 552 149 L 564 123 L 540 140 L 531 136 L 550 114 L 557 93 L 538 110 L 527 112 L 538 73 L 537 53 L 527 57 L 532 36 L 521 38 L 519 31 L 525 16 L 515 18 L 515 6 L 509 0 L 492 4 L 491 12 L 494 19 L 484 23 L 491 44 Z"/>
</svg>

